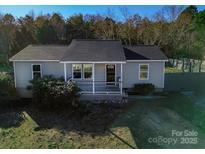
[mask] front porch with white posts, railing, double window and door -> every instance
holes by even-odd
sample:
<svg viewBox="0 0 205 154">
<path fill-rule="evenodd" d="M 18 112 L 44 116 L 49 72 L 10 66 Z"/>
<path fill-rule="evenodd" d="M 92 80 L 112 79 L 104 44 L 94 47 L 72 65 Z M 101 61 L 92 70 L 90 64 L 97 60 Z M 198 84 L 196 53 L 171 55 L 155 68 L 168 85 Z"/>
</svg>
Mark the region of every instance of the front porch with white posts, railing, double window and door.
<svg viewBox="0 0 205 154">
<path fill-rule="evenodd" d="M 70 76 L 67 65 L 72 68 Z M 123 62 L 64 63 L 64 79 L 77 83 L 82 94 L 123 95 Z"/>
</svg>

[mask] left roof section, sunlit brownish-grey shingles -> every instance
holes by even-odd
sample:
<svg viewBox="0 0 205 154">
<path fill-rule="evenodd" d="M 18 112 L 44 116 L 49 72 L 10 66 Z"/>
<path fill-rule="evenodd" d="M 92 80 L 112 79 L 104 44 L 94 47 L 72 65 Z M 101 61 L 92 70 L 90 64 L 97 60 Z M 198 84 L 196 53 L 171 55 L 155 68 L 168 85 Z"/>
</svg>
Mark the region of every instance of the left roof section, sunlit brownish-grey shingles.
<svg viewBox="0 0 205 154">
<path fill-rule="evenodd" d="M 63 45 L 29 45 L 10 60 L 60 60 L 67 47 Z"/>
</svg>

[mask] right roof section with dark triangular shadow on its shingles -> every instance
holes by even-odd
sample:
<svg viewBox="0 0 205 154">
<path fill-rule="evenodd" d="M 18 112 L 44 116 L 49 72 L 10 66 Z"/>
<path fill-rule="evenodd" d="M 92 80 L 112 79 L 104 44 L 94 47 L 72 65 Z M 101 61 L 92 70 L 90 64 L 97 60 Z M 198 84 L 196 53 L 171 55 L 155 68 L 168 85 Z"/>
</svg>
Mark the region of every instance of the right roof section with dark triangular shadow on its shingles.
<svg viewBox="0 0 205 154">
<path fill-rule="evenodd" d="M 160 48 L 154 45 L 125 46 L 124 52 L 127 60 L 167 60 Z"/>
</svg>

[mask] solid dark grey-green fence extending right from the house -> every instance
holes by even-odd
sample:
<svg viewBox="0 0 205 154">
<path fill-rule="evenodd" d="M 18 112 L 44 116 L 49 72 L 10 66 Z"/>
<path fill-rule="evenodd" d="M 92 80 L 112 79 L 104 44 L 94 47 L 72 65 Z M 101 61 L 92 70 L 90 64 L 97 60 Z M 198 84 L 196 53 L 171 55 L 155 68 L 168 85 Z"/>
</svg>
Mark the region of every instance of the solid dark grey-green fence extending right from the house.
<svg viewBox="0 0 205 154">
<path fill-rule="evenodd" d="M 205 73 L 166 73 L 165 91 L 205 91 Z"/>
</svg>

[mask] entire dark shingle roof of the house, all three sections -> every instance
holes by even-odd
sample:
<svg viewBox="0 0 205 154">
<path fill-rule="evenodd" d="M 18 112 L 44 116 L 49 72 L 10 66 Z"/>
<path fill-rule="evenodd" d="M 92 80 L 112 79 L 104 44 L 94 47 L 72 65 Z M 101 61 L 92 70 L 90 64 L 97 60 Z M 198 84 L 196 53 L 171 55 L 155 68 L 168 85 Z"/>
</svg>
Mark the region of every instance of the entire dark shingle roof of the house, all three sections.
<svg viewBox="0 0 205 154">
<path fill-rule="evenodd" d="M 67 45 L 29 45 L 10 58 L 15 60 L 126 61 L 167 60 L 157 46 L 122 46 L 117 40 L 73 40 Z"/>
</svg>

